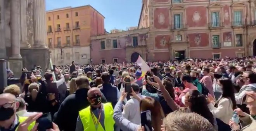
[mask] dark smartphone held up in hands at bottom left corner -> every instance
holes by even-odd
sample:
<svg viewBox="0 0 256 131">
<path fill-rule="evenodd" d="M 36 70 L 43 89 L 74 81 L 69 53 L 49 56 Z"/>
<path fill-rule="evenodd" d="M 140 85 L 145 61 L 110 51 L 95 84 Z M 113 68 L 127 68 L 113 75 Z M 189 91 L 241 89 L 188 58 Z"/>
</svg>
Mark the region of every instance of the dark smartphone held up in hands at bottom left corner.
<svg viewBox="0 0 256 131">
<path fill-rule="evenodd" d="M 50 113 L 45 113 L 40 118 L 36 120 L 38 123 L 37 130 L 38 131 L 46 131 L 47 129 L 52 129 L 52 116 Z"/>
</svg>

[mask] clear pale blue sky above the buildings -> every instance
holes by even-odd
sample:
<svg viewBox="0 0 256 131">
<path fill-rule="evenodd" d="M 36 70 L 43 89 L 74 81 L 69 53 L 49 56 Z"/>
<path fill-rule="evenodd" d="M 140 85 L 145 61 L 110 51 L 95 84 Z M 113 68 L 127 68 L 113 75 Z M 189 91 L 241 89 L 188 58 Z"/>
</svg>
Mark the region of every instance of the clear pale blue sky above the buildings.
<svg viewBox="0 0 256 131">
<path fill-rule="evenodd" d="M 142 0 L 46 0 L 46 10 L 91 5 L 105 17 L 105 29 L 138 26 Z"/>
</svg>

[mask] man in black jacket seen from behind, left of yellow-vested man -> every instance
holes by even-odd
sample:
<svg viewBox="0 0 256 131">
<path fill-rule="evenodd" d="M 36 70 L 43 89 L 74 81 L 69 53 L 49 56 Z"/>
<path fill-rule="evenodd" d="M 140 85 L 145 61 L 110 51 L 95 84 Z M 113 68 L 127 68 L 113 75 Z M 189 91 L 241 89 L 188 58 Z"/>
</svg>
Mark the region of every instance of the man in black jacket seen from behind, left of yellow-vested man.
<svg viewBox="0 0 256 131">
<path fill-rule="evenodd" d="M 61 131 L 75 131 L 78 112 L 90 105 L 87 100 L 87 92 L 90 89 L 88 77 L 79 76 L 75 82 L 78 87 L 76 92 L 67 96 L 54 115 L 54 123 Z M 106 98 L 102 94 L 102 103 L 105 102 Z"/>
</svg>

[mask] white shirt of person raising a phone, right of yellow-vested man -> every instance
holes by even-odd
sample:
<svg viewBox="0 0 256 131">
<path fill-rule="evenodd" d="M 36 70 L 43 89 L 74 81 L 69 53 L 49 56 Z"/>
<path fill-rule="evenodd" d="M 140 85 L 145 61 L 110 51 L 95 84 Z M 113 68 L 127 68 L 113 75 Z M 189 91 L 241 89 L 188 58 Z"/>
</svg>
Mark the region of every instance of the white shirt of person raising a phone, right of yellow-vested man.
<svg viewBox="0 0 256 131">
<path fill-rule="evenodd" d="M 137 96 L 140 97 L 141 99 L 146 97 L 146 96 L 142 96 L 140 93 L 137 94 Z M 125 103 L 125 107 L 122 114 L 123 114 L 123 117 L 131 121 L 131 123 L 140 125 L 141 124 L 140 102 L 135 98 L 130 99 Z"/>
</svg>

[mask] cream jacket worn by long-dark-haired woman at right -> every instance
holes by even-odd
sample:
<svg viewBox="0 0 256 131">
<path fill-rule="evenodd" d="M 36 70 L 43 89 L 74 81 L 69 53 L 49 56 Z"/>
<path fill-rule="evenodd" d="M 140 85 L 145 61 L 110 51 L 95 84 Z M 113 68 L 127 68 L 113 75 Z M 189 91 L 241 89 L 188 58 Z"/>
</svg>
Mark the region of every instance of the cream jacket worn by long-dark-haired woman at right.
<svg viewBox="0 0 256 131">
<path fill-rule="evenodd" d="M 233 104 L 228 98 L 221 98 L 218 107 L 214 107 L 212 103 L 208 104 L 208 107 L 215 118 L 220 119 L 226 124 L 229 123 L 233 116 Z"/>
</svg>

